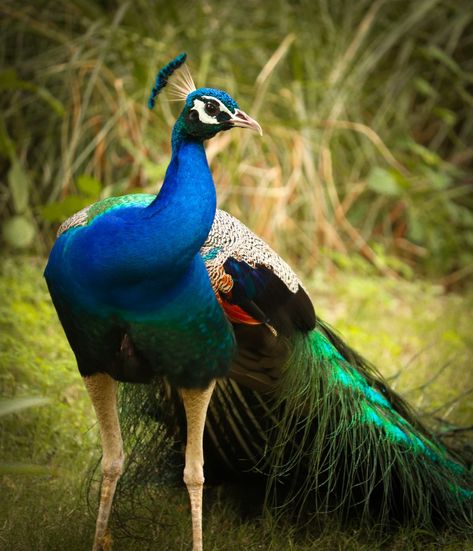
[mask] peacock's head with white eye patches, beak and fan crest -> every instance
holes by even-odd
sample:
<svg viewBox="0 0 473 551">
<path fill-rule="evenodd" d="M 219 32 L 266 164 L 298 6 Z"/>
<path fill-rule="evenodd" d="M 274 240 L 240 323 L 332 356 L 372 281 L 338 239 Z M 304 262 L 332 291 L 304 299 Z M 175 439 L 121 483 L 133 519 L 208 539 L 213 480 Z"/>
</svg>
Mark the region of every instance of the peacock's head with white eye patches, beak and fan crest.
<svg viewBox="0 0 473 551">
<path fill-rule="evenodd" d="M 196 90 L 189 69 L 184 65 L 185 60 L 186 54 L 180 54 L 159 71 L 148 100 L 150 109 L 154 107 L 160 91 L 169 85 L 172 99 L 185 102 L 175 125 L 179 135 L 207 140 L 235 126 L 250 128 L 263 134 L 258 122 L 242 111 L 237 102 L 223 90 L 215 88 Z M 168 82 L 173 73 L 173 80 Z"/>
</svg>

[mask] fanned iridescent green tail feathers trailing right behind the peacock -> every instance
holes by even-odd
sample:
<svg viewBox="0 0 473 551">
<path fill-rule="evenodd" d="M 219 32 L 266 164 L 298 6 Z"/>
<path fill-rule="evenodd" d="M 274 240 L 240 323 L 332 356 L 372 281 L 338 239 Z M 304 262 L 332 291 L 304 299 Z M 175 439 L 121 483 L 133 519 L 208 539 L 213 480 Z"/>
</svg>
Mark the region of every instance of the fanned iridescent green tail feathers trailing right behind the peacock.
<svg viewBox="0 0 473 551">
<path fill-rule="evenodd" d="M 280 510 L 309 505 L 315 513 L 356 510 L 362 521 L 400 517 L 472 530 L 472 473 L 374 368 L 350 349 L 342 356 L 339 342 L 320 323 L 291 343 L 271 411 L 278 422 L 260 465 L 269 477 L 267 499 Z"/>
</svg>

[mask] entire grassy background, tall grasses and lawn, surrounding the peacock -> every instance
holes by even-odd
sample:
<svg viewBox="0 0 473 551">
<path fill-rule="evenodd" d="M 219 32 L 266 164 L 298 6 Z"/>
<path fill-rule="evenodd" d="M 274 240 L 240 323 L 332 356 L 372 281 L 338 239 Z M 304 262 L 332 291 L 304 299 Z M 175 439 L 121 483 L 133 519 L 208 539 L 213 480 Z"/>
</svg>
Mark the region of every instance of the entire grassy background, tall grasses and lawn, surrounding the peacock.
<svg viewBox="0 0 473 551">
<path fill-rule="evenodd" d="M 473 423 L 469 0 L 4 0 L 0 15 L 0 547 L 89 547 L 80 481 L 97 434 L 41 271 L 69 215 L 159 189 L 179 106 L 163 97 L 150 113 L 146 100 L 181 51 L 197 86 L 229 91 L 265 132 L 208 144 L 220 206 L 444 432 Z M 209 549 L 375 545 L 244 522 L 224 497 Z M 186 496 L 165 501 L 147 529 L 187 549 Z M 402 531 L 382 548 L 447 544 L 468 548 Z"/>
</svg>

